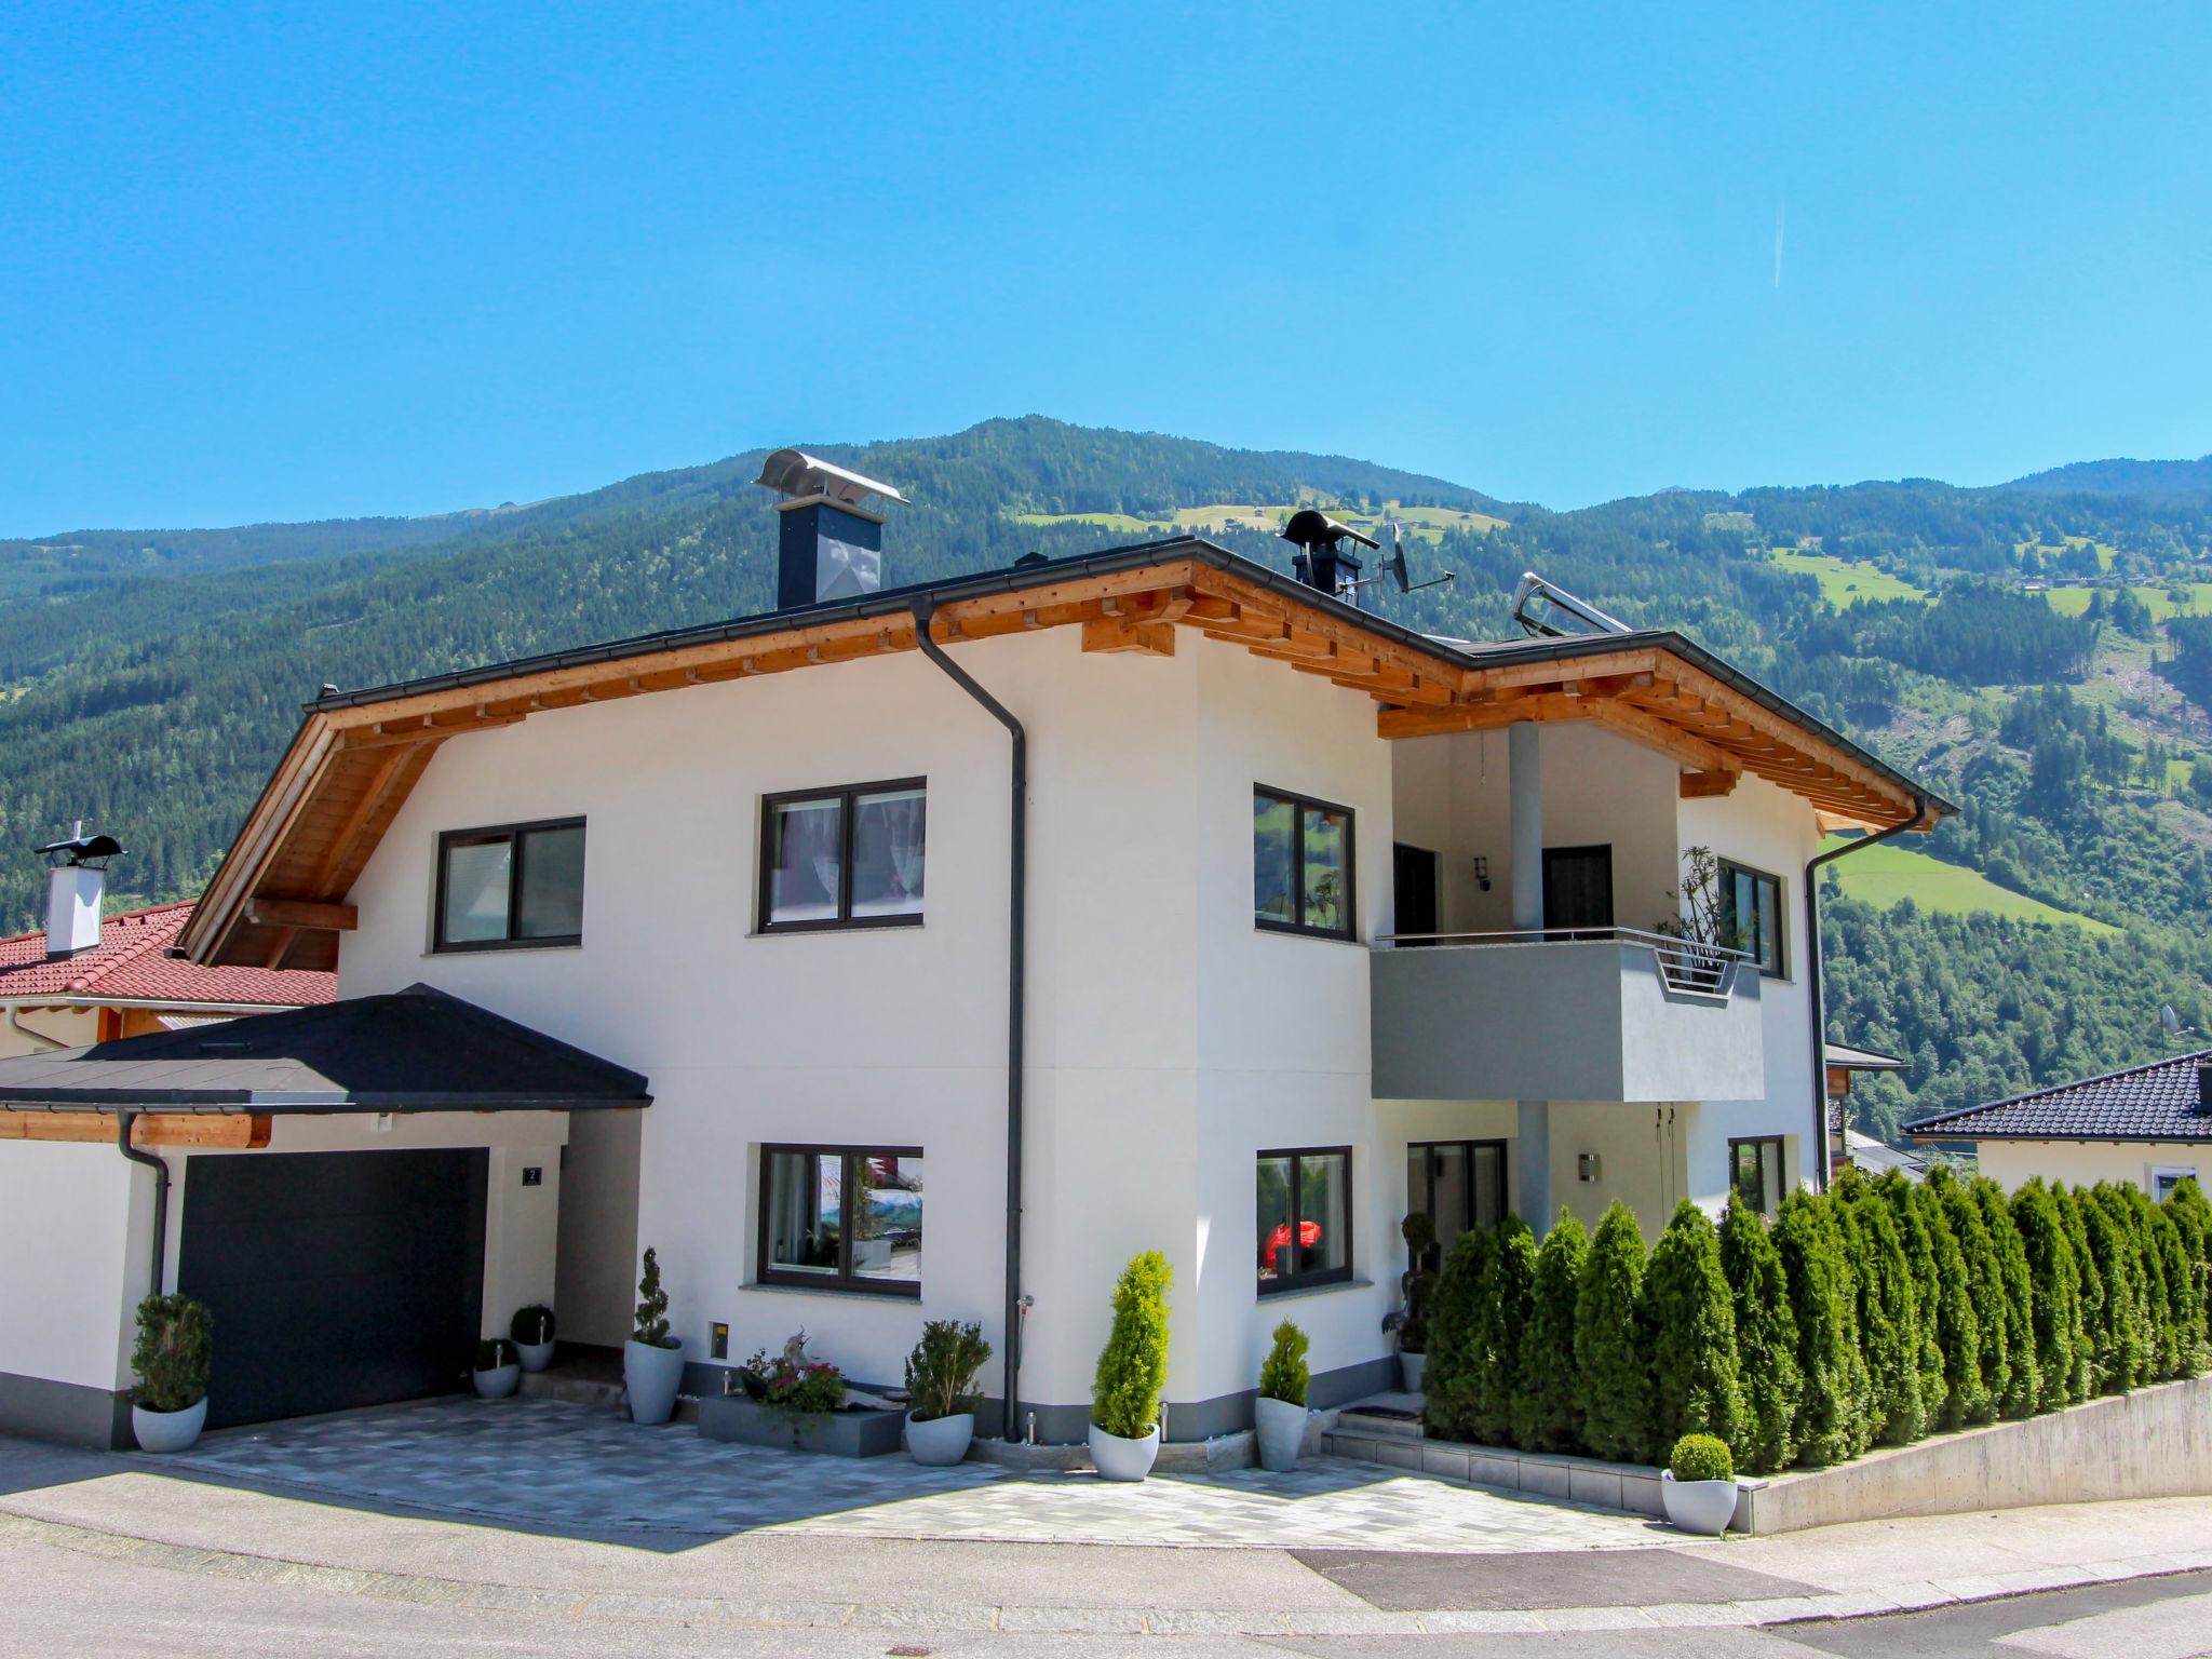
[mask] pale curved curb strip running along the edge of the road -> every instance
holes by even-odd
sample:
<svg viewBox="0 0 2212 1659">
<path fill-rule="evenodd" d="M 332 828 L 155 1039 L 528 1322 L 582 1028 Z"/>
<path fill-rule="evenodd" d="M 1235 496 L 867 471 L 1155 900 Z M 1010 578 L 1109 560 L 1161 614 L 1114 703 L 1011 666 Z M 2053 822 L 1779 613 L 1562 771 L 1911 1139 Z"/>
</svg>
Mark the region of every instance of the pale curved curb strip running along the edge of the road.
<svg viewBox="0 0 2212 1659">
<path fill-rule="evenodd" d="M 2090 1584 L 2174 1577 L 2212 1568 L 2212 1548 L 2185 1555 L 2132 1555 L 2075 1568 L 2037 1568 L 1975 1579 L 1902 1584 L 1893 1593 L 1834 1590 L 1765 1601 L 1661 1601 L 1641 1608 L 1528 1608 L 1389 1613 L 1343 1608 L 1298 1613 L 1237 1613 L 1228 1608 L 1040 1608 L 1040 1606 L 909 1606 L 878 1601 L 737 1601 L 703 1595 L 635 1590 L 549 1590 L 526 1584 L 480 1584 L 425 1573 L 319 1566 L 274 1555 L 190 1548 L 128 1533 L 106 1533 L 69 1522 L 0 1511 L 0 1540 L 46 1544 L 131 1566 L 246 1584 L 363 1595 L 482 1613 L 533 1613 L 580 1619 L 714 1621 L 774 1630 L 960 1630 L 1022 1635 L 1250 1635 L 1250 1637 L 1367 1637 L 1367 1635 L 1542 1635 L 1562 1630 L 1694 1630 L 1832 1624 L 1885 1613 L 2006 1601 Z"/>
</svg>

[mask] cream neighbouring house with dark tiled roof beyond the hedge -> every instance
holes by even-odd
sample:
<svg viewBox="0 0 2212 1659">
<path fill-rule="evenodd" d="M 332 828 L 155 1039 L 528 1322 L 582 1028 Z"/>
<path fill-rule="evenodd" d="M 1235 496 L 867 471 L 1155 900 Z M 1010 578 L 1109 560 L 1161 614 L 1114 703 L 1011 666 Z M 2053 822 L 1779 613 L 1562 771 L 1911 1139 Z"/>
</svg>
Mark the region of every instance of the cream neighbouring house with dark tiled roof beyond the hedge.
<svg viewBox="0 0 2212 1659">
<path fill-rule="evenodd" d="M 1905 1126 L 1916 1141 L 1971 1141 L 2004 1188 L 2031 1177 L 2128 1181 L 2154 1199 L 2212 1177 L 2212 1048 Z"/>
</svg>

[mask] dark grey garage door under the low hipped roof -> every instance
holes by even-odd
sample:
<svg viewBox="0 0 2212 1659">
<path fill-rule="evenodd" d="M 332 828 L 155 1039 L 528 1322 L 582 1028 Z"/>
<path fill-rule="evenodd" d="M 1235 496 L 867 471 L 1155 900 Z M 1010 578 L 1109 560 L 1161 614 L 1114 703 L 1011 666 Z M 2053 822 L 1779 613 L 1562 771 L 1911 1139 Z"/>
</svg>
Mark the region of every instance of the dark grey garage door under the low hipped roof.
<svg viewBox="0 0 2212 1659">
<path fill-rule="evenodd" d="M 215 1314 L 208 1427 L 467 1383 L 482 1150 L 195 1157 L 177 1287 Z"/>
</svg>

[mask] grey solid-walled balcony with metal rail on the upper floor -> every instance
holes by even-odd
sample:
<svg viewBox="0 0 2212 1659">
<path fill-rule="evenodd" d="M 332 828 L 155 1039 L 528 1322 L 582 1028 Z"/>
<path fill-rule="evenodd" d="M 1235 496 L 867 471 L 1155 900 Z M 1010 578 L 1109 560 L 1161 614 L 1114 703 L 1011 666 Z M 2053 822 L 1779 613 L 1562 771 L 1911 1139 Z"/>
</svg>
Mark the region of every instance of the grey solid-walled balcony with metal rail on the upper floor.
<svg viewBox="0 0 2212 1659">
<path fill-rule="evenodd" d="M 1418 947 L 1418 949 L 1416 949 Z M 1759 969 L 1630 927 L 1385 938 L 1376 1099 L 1756 1099 Z"/>
</svg>

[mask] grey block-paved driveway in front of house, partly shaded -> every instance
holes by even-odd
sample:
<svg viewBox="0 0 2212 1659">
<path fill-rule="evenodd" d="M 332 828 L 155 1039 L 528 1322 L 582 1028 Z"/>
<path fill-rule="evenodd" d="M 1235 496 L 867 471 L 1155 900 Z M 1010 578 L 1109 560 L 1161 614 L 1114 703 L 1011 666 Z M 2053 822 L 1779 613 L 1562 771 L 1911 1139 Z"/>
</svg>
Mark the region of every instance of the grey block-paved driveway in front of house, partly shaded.
<svg viewBox="0 0 2212 1659">
<path fill-rule="evenodd" d="M 821 1458 L 604 1407 L 449 1398 L 206 1436 L 164 1473 L 681 1548 L 734 1533 L 1338 1551 L 1584 1551 L 1674 1537 L 1615 1511 L 1314 1458 L 1115 1486 L 1088 1473 Z"/>
</svg>

